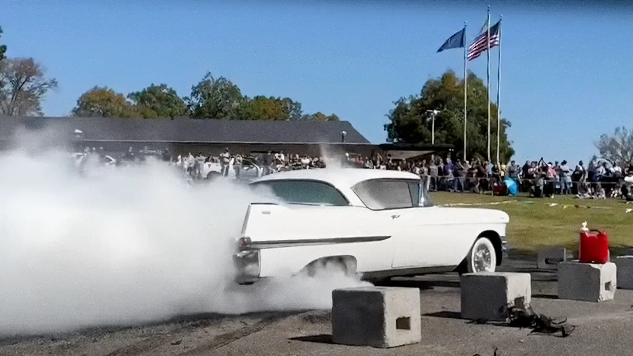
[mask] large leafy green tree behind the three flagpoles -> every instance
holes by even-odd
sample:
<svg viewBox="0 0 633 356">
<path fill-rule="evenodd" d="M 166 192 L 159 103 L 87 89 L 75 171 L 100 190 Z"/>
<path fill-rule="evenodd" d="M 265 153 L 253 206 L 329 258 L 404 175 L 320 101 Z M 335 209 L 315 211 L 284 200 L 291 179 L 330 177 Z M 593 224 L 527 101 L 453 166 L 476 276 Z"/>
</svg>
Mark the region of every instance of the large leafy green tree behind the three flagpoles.
<svg viewBox="0 0 633 356">
<path fill-rule="evenodd" d="M 468 73 L 468 130 L 467 153 L 470 157 L 487 156 L 487 91 L 484 82 L 472 72 Z M 439 79 L 429 79 L 418 96 L 400 98 L 389 111 L 389 124 L 385 124 L 387 141 L 391 143 L 430 144 L 432 120 L 427 110 L 441 110 L 436 115 L 436 144 L 453 144 L 455 156 L 463 156 L 464 136 L 464 81 L 451 70 Z M 506 129 L 510 122 L 501 119 L 499 158 L 508 162 L 514 155 Z M 496 157 L 497 107 L 491 105 L 491 158 Z"/>
</svg>

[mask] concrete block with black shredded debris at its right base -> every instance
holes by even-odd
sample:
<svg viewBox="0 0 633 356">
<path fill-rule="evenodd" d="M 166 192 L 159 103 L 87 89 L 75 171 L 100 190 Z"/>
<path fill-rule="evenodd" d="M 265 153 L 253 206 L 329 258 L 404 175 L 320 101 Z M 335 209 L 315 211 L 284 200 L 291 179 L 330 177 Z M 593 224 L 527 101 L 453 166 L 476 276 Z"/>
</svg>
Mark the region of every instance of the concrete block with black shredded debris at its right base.
<svg viewBox="0 0 633 356">
<path fill-rule="evenodd" d="M 507 321 L 508 308 L 527 307 L 532 298 L 529 273 L 479 272 L 461 275 L 461 317 Z"/>
</svg>

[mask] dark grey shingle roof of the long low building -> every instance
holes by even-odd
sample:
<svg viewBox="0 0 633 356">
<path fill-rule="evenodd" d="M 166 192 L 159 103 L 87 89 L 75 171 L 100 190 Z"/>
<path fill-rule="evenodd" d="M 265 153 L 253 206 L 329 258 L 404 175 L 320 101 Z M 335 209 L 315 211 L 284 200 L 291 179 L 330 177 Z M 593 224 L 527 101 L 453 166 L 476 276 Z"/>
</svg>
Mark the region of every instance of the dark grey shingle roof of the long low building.
<svg viewBox="0 0 633 356">
<path fill-rule="evenodd" d="M 369 143 L 346 121 L 246 121 L 191 118 L 0 117 L 0 139 L 26 125 L 73 137 L 103 141 L 167 141 L 175 143 Z"/>
</svg>

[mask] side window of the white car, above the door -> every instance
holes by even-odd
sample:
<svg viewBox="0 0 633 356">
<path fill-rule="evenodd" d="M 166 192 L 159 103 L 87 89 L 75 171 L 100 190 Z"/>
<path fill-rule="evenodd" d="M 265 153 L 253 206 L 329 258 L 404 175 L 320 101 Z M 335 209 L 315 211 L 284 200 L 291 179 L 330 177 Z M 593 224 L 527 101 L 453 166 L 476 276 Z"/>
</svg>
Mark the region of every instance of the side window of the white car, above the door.
<svg viewBox="0 0 633 356">
<path fill-rule="evenodd" d="M 420 200 L 417 186 L 411 187 L 410 182 L 399 179 L 363 181 L 356 184 L 352 190 L 372 210 L 417 207 Z M 415 195 L 412 190 L 415 190 Z"/>
</svg>

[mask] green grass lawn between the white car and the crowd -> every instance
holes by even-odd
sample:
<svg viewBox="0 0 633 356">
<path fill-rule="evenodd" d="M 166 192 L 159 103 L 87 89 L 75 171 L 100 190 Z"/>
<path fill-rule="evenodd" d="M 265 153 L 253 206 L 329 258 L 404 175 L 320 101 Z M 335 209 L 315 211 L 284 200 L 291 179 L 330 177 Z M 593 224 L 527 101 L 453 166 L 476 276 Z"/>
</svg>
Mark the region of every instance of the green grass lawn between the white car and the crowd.
<svg viewBox="0 0 633 356">
<path fill-rule="evenodd" d="M 580 224 L 583 221 L 587 221 L 589 229 L 606 230 L 612 248 L 633 246 L 633 212 L 625 213 L 633 205 L 627 205 L 622 200 L 580 200 L 571 196 L 527 198 L 447 192 L 431 193 L 431 196 L 436 205 L 516 200 L 477 208 L 499 209 L 508 213 L 508 242 L 512 248 L 525 253 L 535 253 L 542 246 L 565 246 L 577 250 Z M 558 205 L 549 207 L 551 203 Z M 563 209 L 563 205 L 569 206 Z M 592 208 L 576 208 L 574 205 Z"/>
</svg>

